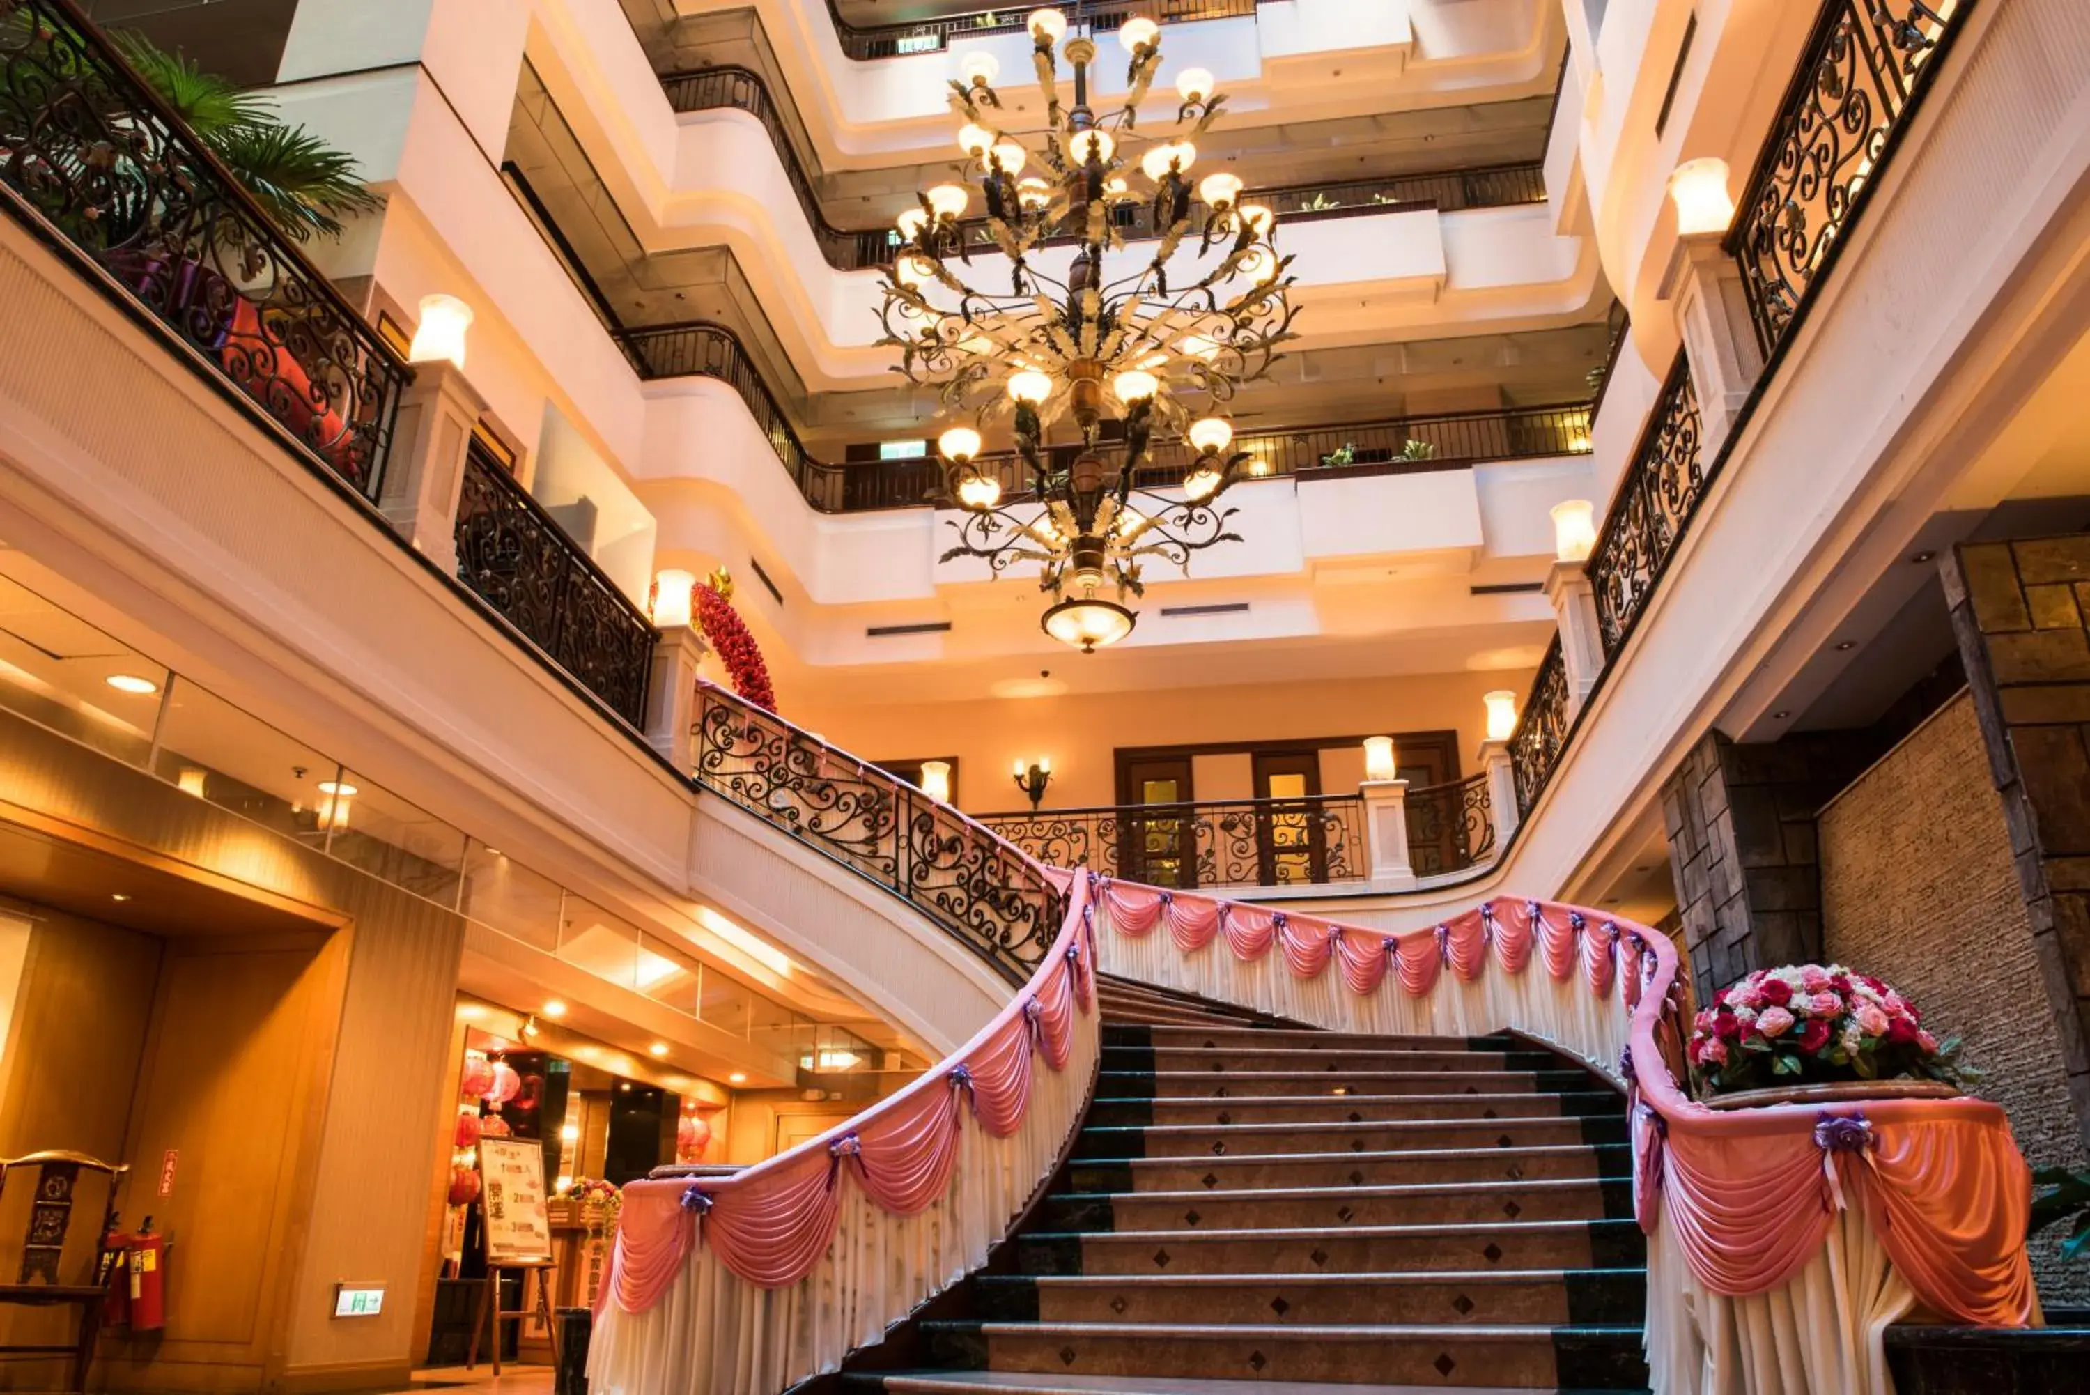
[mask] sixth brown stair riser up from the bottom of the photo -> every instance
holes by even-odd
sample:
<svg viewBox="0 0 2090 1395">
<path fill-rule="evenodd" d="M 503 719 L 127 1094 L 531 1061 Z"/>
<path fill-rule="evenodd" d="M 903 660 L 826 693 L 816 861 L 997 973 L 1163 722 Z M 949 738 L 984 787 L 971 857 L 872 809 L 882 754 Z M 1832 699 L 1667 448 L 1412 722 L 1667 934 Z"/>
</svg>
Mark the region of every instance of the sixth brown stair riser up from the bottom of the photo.
<svg viewBox="0 0 2090 1395">
<path fill-rule="evenodd" d="M 1076 1159 L 1133 1157 L 1227 1157 L 1400 1152 L 1415 1148 L 1545 1148 L 1557 1144 L 1616 1144 L 1626 1140 L 1626 1121 L 1599 1119 L 1448 1119 L 1436 1123 L 1325 1123 L 1325 1125 L 1231 1125 L 1218 1129 L 1085 1127 L 1074 1138 Z"/>
</svg>

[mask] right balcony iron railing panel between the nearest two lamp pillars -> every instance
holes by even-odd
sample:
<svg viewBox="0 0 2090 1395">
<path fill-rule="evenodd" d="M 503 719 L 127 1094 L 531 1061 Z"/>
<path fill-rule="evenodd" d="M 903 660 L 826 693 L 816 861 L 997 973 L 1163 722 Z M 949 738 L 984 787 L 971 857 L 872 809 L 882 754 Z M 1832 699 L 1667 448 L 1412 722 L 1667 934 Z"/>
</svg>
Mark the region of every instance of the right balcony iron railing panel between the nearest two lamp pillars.
<svg viewBox="0 0 2090 1395">
<path fill-rule="evenodd" d="M 1605 659 L 1632 634 L 1710 483 L 1691 364 L 1678 349 L 1586 563 Z"/>
</svg>

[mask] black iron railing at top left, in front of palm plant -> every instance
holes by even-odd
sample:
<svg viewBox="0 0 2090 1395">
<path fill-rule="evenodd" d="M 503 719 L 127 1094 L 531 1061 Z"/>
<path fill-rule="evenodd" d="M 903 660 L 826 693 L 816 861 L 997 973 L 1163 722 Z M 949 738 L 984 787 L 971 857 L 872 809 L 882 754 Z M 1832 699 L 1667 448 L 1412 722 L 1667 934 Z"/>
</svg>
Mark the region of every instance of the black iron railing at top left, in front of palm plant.
<svg viewBox="0 0 2090 1395">
<path fill-rule="evenodd" d="M 368 500 L 412 376 L 73 0 L 0 0 L 0 203 Z"/>
</svg>

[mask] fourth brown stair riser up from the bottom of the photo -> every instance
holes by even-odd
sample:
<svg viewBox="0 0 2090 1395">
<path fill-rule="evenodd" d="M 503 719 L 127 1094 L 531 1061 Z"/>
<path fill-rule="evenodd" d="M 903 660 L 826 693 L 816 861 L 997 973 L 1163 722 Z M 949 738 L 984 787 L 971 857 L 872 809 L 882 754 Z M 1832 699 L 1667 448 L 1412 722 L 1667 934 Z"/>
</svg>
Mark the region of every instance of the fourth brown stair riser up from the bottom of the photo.
<svg viewBox="0 0 2090 1395">
<path fill-rule="evenodd" d="M 1350 1196 L 1344 1190 L 1273 1200 L 1049 1198 L 1047 1230 L 1306 1230 L 1315 1226 L 1480 1226 L 1492 1221 L 1601 1221 L 1630 1215 L 1624 1186 L 1486 1188 L 1438 1196 Z M 1622 1207 L 1622 1203 L 1626 1203 Z M 1195 1217 L 1195 1219 L 1193 1219 Z"/>
</svg>

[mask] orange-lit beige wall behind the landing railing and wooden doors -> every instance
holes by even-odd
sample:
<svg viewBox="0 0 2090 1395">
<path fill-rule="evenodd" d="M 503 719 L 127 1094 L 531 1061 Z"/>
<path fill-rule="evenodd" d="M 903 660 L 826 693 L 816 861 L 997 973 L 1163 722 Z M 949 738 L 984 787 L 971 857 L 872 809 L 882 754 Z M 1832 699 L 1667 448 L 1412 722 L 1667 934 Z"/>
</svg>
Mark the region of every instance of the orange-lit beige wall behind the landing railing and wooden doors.
<svg viewBox="0 0 2090 1395">
<path fill-rule="evenodd" d="M 1070 655 L 1068 663 L 1081 663 L 1081 657 Z M 1463 774 L 1473 774 L 1480 768 L 1476 751 L 1486 730 L 1480 694 L 1511 688 L 1522 699 L 1530 680 L 1532 676 L 1522 669 L 1425 673 L 1026 701 L 815 703 L 786 705 L 784 715 L 836 747 L 874 761 L 955 755 L 957 803 L 974 814 L 1024 807 L 1024 797 L 1009 782 L 1009 761 L 1049 755 L 1053 780 L 1045 793 L 1045 807 L 1074 809 L 1116 801 L 1112 753 L 1118 747 L 1457 730 L 1459 768 Z M 1354 761 L 1333 751 L 1325 753 L 1323 793 L 1352 793 L 1363 776 L 1363 753 Z M 1250 795 L 1244 757 L 1235 757 L 1233 763 L 1225 757 L 1200 759 L 1193 780 L 1200 799 Z"/>
</svg>

